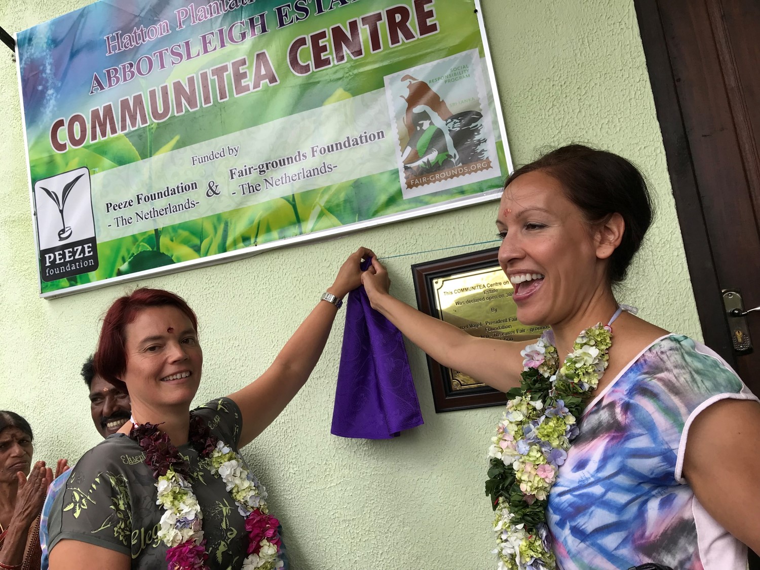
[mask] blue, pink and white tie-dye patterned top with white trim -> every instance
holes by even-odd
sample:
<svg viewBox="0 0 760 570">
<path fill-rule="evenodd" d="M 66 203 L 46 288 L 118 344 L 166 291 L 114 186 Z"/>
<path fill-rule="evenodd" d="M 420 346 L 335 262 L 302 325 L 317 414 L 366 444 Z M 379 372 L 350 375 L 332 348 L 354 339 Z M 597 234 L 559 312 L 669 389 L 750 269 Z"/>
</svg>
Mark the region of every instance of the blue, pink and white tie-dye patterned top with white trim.
<svg viewBox="0 0 760 570">
<path fill-rule="evenodd" d="M 746 546 L 682 477 L 689 425 L 724 398 L 758 400 L 720 356 L 682 335 L 655 340 L 620 372 L 581 417 L 549 494 L 559 568 L 746 568 Z"/>
</svg>

